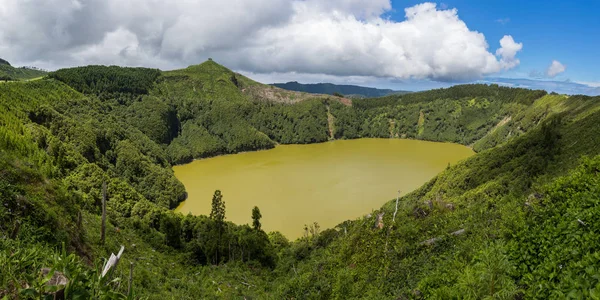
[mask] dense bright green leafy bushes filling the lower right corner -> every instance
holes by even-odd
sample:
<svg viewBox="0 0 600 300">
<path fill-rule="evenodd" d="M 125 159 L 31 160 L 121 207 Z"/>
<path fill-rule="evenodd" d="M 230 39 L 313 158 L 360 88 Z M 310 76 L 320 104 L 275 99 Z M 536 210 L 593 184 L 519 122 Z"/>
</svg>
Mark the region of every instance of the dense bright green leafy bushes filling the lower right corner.
<svg viewBox="0 0 600 300">
<path fill-rule="evenodd" d="M 526 222 L 512 245 L 530 298 L 600 296 L 600 157 L 528 199 Z"/>
</svg>

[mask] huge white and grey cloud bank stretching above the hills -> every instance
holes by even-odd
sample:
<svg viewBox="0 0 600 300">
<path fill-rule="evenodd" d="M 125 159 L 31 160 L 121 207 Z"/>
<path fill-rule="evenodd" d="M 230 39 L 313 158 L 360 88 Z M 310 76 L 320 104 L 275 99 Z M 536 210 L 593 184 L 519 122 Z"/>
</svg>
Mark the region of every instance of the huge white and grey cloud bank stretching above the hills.
<svg viewBox="0 0 600 300">
<path fill-rule="evenodd" d="M 391 9 L 389 0 L 3 0 L 0 57 L 164 69 L 212 57 L 254 73 L 438 81 L 519 64 L 521 43 L 507 35 L 490 52 L 456 9 L 423 3 L 403 21 L 382 18 Z"/>
</svg>

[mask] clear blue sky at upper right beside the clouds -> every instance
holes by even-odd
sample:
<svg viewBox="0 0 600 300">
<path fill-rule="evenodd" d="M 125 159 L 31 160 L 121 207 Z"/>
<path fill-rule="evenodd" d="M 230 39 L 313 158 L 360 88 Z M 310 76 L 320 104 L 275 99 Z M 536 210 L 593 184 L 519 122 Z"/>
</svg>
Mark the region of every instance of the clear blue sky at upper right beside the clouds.
<svg viewBox="0 0 600 300">
<path fill-rule="evenodd" d="M 392 1 L 388 16 L 403 20 L 403 8 L 418 3 Z M 600 85 L 600 1 L 448 0 L 438 6 L 458 9 L 459 17 L 469 29 L 483 33 L 491 49 L 507 34 L 523 43 L 520 65 L 494 74 L 495 79 L 535 79 L 531 73 L 543 73 L 557 60 L 566 70 L 553 81 Z"/>
</svg>

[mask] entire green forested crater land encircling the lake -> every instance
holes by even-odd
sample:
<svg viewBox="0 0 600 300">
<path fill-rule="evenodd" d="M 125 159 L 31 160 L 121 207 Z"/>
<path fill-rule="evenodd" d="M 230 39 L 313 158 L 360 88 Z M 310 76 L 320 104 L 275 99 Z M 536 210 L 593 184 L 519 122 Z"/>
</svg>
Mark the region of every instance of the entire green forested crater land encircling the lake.
<svg viewBox="0 0 600 300">
<path fill-rule="evenodd" d="M 600 296 L 600 98 L 460 85 L 289 104 L 261 89 L 213 61 L 0 84 L 0 298 Z M 186 198 L 174 164 L 360 137 L 477 154 L 335 228 L 307 221 L 296 241 L 263 231 L 259 207 L 228 222 L 227 191 L 209 216 L 172 210 Z"/>
</svg>

